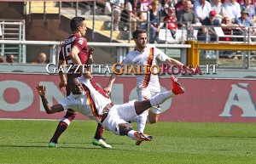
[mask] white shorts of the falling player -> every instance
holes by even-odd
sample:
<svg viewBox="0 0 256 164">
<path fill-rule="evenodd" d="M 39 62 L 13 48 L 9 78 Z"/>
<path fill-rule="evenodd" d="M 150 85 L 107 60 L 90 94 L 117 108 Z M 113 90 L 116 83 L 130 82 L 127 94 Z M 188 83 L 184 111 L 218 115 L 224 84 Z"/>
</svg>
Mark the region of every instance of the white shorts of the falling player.
<svg viewBox="0 0 256 164">
<path fill-rule="evenodd" d="M 113 133 L 119 135 L 119 124 L 127 123 L 137 116 L 134 102 L 136 99 L 125 103 L 124 105 L 113 105 L 111 110 L 108 112 L 108 116 L 102 122 L 104 129 L 112 131 Z"/>
</svg>

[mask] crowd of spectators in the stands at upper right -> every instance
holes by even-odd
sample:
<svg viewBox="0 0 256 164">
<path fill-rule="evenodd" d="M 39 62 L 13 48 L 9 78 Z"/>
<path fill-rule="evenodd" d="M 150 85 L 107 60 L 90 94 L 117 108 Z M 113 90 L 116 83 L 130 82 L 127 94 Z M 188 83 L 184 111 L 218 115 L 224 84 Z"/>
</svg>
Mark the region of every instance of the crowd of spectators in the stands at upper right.
<svg viewBox="0 0 256 164">
<path fill-rule="evenodd" d="M 129 30 L 130 19 L 131 31 L 148 29 L 149 25 L 150 43 L 158 42 L 161 28 L 169 29 L 175 38 L 177 29 L 188 25 L 196 26 L 194 29 L 199 30 L 198 40 L 211 42 L 216 41 L 214 29 L 207 32 L 200 25 L 224 26 L 225 35 L 230 35 L 230 30 L 233 35 L 248 32 L 255 35 L 255 4 L 254 0 L 110 0 L 105 11 L 111 14 L 113 8 L 115 31 Z M 230 24 L 226 20 L 230 20 Z M 227 30 L 226 26 L 230 25 L 237 27 Z M 222 40 L 230 41 L 230 38 Z"/>
</svg>

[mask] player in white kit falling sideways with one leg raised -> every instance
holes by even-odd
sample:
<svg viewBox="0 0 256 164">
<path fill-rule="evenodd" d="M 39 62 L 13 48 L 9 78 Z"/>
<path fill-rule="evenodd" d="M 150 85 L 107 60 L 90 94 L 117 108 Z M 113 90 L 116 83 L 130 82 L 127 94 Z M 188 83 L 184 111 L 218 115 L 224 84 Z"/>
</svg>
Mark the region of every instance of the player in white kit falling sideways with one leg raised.
<svg viewBox="0 0 256 164">
<path fill-rule="evenodd" d="M 60 104 L 50 106 L 45 97 L 45 86 L 37 86 L 38 94 L 42 99 L 44 110 L 48 114 L 60 112 L 67 109 L 79 111 L 84 116 L 102 123 L 104 129 L 112 131 L 118 135 L 127 135 L 131 139 L 137 141 L 151 141 L 152 136 L 134 131 L 129 121 L 139 116 L 143 111 L 148 110 L 152 106 L 164 103 L 167 99 L 171 99 L 176 94 L 184 93 L 184 88 L 175 76 L 172 79 L 172 90 L 160 93 L 143 101 L 132 100 L 123 105 L 113 105 L 111 99 L 108 99 L 96 91 L 90 80 L 84 76 L 79 78 L 69 78 L 67 80 L 67 88 L 71 93 L 67 98 L 63 99 Z"/>
</svg>

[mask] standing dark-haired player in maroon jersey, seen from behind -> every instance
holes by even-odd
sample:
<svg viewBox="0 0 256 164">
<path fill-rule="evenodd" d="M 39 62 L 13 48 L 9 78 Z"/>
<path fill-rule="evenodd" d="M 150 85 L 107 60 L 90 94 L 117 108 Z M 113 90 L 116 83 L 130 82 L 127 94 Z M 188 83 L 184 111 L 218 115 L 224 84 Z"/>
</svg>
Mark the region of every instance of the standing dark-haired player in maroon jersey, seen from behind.
<svg viewBox="0 0 256 164">
<path fill-rule="evenodd" d="M 73 65 L 72 69 L 67 73 L 67 79 L 73 77 L 81 76 L 82 72 L 85 78 L 91 79 L 90 68 L 87 67 L 87 70 L 83 70 L 83 67 L 79 67 L 79 72 L 76 72 L 75 65 L 91 65 L 92 64 L 92 53 L 94 48 L 87 48 L 87 39 L 84 37 L 87 31 L 86 23 L 84 17 L 74 17 L 70 21 L 70 28 L 73 31 L 70 37 L 67 38 L 65 42 L 62 43 L 61 51 L 59 54 L 59 67 L 65 68 L 66 65 Z M 62 71 L 59 72 L 59 76 L 61 82 L 59 87 L 61 90 L 66 89 L 67 79 Z M 90 80 L 92 81 L 92 80 Z M 99 93 L 108 96 L 102 88 L 99 88 L 96 85 L 96 82 L 91 82 L 94 85 L 94 88 Z M 70 94 L 70 90 L 67 88 L 67 96 Z M 56 147 L 58 143 L 58 139 L 61 136 L 70 122 L 73 121 L 75 116 L 77 115 L 77 111 L 68 109 L 65 116 L 61 118 L 61 121 L 58 124 L 58 127 L 55 130 L 55 133 L 49 141 L 49 147 Z M 102 146 L 103 148 L 111 148 L 111 145 L 106 144 L 102 139 L 103 127 L 102 124 L 98 123 L 96 134 L 94 139 L 92 140 L 92 144 Z"/>
</svg>

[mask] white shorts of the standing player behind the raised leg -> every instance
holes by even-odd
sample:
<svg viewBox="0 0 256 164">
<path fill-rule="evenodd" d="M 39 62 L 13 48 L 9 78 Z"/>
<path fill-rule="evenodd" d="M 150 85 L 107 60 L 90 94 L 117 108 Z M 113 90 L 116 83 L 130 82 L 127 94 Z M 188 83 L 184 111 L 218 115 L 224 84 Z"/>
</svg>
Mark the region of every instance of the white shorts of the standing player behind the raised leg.
<svg viewBox="0 0 256 164">
<path fill-rule="evenodd" d="M 137 88 L 137 96 L 140 101 L 143 101 L 145 99 L 151 99 L 156 94 L 159 94 L 160 92 L 154 92 L 148 88 Z M 155 114 L 160 114 L 161 106 L 152 106 L 150 109 Z"/>
</svg>

